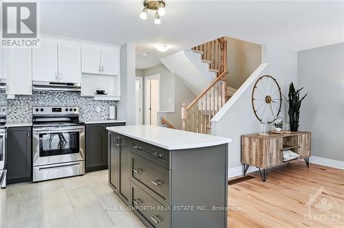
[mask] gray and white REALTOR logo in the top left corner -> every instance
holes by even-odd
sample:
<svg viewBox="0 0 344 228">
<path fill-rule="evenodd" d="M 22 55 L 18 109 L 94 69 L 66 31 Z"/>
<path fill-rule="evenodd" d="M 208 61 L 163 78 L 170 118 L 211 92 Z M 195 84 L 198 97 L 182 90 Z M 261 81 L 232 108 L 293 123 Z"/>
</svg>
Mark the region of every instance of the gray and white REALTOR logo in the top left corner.
<svg viewBox="0 0 344 228">
<path fill-rule="evenodd" d="M 2 47 L 37 47 L 37 2 L 2 3 Z"/>
</svg>

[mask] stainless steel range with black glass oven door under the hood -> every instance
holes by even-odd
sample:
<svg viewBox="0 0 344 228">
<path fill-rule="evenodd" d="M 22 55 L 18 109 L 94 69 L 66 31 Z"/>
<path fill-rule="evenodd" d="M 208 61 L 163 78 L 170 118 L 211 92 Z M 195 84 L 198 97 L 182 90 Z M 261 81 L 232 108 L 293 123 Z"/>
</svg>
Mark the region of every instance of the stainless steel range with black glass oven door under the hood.
<svg viewBox="0 0 344 228">
<path fill-rule="evenodd" d="M 85 174 L 85 126 L 77 106 L 32 107 L 32 179 Z"/>
</svg>

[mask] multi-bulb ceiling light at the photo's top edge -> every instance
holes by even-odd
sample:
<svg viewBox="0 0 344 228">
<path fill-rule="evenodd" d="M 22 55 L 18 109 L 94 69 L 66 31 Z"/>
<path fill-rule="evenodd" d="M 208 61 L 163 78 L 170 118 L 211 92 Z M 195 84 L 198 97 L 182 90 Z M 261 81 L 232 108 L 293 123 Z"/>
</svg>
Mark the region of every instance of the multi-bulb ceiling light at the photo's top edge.
<svg viewBox="0 0 344 228">
<path fill-rule="evenodd" d="M 154 23 L 155 25 L 160 24 L 160 16 L 164 16 L 164 14 L 166 14 L 165 2 L 163 0 L 144 0 L 143 6 L 144 8 L 140 13 L 140 19 L 146 20 L 148 10 L 154 10 Z"/>
</svg>

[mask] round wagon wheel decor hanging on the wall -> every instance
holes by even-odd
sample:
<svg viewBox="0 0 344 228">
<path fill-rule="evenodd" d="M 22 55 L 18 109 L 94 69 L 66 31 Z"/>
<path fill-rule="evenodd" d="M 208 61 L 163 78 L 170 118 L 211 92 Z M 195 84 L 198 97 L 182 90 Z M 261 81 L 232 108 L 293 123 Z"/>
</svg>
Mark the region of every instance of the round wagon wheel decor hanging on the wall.
<svg viewBox="0 0 344 228">
<path fill-rule="evenodd" d="M 263 124 L 270 124 L 281 112 L 281 87 L 275 78 L 261 76 L 252 91 L 252 108 Z"/>
</svg>

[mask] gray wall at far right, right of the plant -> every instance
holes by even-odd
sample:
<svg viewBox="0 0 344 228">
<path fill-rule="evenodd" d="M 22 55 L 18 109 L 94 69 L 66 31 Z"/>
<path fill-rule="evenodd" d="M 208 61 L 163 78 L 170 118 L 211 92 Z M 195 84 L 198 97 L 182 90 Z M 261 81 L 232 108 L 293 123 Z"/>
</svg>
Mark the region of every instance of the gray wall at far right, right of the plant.
<svg viewBox="0 0 344 228">
<path fill-rule="evenodd" d="M 312 155 L 344 161 L 344 43 L 299 52 L 297 79 L 308 93 L 300 128 L 312 132 Z"/>
</svg>

